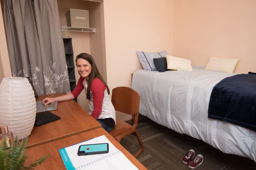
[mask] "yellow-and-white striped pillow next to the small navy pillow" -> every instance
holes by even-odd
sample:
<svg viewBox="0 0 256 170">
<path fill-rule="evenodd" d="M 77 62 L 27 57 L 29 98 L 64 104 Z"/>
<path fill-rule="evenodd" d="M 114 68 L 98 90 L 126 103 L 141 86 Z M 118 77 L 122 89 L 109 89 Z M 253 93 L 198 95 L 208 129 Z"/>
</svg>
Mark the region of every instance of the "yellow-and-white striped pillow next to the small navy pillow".
<svg viewBox="0 0 256 170">
<path fill-rule="evenodd" d="M 167 69 L 178 71 L 193 71 L 191 61 L 184 58 L 166 55 Z"/>
</svg>

